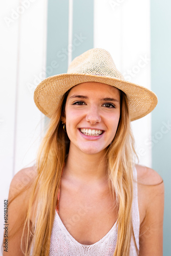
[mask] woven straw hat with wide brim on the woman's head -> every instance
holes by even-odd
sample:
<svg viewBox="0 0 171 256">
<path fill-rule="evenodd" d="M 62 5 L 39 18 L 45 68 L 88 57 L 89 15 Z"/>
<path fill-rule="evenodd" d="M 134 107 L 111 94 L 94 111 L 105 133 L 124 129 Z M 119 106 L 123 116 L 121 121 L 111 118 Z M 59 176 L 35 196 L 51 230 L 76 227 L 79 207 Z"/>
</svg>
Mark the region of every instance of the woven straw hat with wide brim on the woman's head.
<svg viewBox="0 0 171 256">
<path fill-rule="evenodd" d="M 125 81 L 116 69 L 110 53 L 104 49 L 94 48 L 76 57 L 67 73 L 50 76 L 38 84 L 34 92 L 37 108 L 51 117 L 63 94 L 82 82 L 105 83 L 123 91 L 129 103 L 131 121 L 147 115 L 157 105 L 155 93 Z"/>
</svg>

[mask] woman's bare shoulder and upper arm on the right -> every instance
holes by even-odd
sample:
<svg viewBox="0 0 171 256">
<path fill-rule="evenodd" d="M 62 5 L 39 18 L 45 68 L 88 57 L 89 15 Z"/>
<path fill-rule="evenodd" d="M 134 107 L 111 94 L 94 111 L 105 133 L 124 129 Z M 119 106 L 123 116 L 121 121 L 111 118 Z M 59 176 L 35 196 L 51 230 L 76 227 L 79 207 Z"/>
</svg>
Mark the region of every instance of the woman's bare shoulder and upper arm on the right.
<svg viewBox="0 0 171 256">
<path fill-rule="evenodd" d="M 162 255 L 164 183 L 152 168 L 136 165 L 140 225 L 139 255 Z"/>
</svg>

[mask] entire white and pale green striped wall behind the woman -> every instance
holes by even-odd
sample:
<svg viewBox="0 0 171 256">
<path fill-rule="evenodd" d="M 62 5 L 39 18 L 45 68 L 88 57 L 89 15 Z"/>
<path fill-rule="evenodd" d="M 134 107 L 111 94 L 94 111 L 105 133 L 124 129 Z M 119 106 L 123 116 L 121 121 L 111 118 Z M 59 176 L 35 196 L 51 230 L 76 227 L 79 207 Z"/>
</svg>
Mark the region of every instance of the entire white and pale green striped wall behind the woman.
<svg viewBox="0 0 171 256">
<path fill-rule="evenodd" d="M 1 224 L 10 181 L 19 169 L 35 162 L 48 122 L 34 105 L 35 87 L 45 77 L 67 72 L 72 59 L 84 51 L 104 48 L 126 80 L 149 89 L 152 85 L 159 96 L 153 114 L 133 121 L 132 127 L 140 164 L 153 166 L 165 181 L 164 256 L 171 254 L 169 7 L 166 0 L 162 5 L 159 0 L 9 0 L 8 5 L 0 4 L 4 34 L 0 159 L 5 170 L 0 173 Z"/>
</svg>

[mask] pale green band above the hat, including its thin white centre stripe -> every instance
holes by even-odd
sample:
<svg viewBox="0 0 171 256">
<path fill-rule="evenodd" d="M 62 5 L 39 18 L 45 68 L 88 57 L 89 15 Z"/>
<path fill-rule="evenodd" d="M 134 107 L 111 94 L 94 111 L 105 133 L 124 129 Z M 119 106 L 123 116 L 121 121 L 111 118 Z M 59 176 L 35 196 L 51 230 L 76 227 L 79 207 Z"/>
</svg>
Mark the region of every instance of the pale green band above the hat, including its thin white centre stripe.
<svg viewBox="0 0 171 256">
<path fill-rule="evenodd" d="M 50 75 L 66 73 L 73 58 L 93 48 L 93 10 L 92 0 L 49 0 L 47 76 L 50 67 Z"/>
</svg>

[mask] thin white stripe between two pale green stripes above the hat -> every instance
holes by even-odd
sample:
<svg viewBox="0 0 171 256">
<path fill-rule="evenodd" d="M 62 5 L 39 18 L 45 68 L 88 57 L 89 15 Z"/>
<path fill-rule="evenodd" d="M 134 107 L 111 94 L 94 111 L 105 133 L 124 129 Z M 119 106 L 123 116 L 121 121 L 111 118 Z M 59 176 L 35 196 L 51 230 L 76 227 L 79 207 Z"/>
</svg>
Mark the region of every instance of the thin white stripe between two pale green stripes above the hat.
<svg viewBox="0 0 171 256">
<path fill-rule="evenodd" d="M 73 0 L 69 0 L 68 19 L 68 66 L 72 61 L 72 31 L 73 31 Z"/>
</svg>

